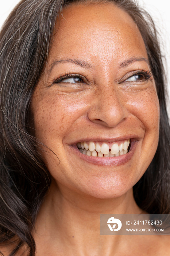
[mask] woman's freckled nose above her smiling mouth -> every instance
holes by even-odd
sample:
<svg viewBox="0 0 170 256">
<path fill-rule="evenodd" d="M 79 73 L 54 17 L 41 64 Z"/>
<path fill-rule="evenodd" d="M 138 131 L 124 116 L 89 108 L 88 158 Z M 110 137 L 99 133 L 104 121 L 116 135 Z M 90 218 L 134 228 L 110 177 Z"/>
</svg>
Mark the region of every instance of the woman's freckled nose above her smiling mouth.
<svg viewBox="0 0 170 256">
<path fill-rule="evenodd" d="M 124 97 L 119 90 L 109 86 L 96 91 L 88 111 L 88 118 L 93 123 L 116 127 L 127 117 Z"/>
</svg>

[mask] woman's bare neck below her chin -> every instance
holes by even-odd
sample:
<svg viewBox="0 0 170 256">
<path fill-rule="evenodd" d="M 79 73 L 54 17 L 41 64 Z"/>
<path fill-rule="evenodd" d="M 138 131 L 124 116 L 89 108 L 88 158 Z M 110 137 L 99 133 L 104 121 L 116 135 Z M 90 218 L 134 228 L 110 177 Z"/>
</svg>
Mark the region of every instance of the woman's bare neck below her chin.
<svg viewBox="0 0 170 256">
<path fill-rule="evenodd" d="M 64 244 L 67 241 L 69 249 L 76 248 L 80 252 L 77 255 L 109 255 L 108 248 L 113 248 L 113 244 L 116 246 L 121 236 L 100 236 L 100 214 L 141 212 L 135 203 L 132 189 L 119 198 L 100 199 L 70 191 L 52 182 L 36 220 L 35 240 L 42 240 L 38 236 L 42 234 L 44 238 L 53 237 L 62 252 L 65 250 L 63 241 Z M 108 247 L 110 243 L 112 246 Z M 67 253 L 61 255 L 72 255 L 71 251 L 69 253 L 67 249 Z M 50 255 L 53 255 L 52 252 Z"/>
</svg>

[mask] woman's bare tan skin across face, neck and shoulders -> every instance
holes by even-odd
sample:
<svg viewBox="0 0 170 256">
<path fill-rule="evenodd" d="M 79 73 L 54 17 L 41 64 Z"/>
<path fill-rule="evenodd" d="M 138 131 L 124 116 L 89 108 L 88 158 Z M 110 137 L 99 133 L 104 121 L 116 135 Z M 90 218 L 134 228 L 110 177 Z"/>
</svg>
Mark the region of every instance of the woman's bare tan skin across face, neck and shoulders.
<svg viewBox="0 0 170 256">
<path fill-rule="evenodd" d="M 36 220 L 36 255 L 168 255 L 165 239 L 157 236 L 100 236 L 98 229 L 101 213 L 144 213 L 132 187 L 157 149 L 159 102 L 152 76 L 127 80 L 150 69 L 146 60 L 120 67 L 129 58 L 148 59 L 140 32 L 111 3 L 70 5 L 58 19 L 31 102 L 35 136 L 54 152 L 42 146 L 52 182 Z M 89 66 L 67 61 L 51 68 L 66 58 Z M 54 83 L 65 73 L 81 74 L 84 82 Z M 134 138 L 134 153 L 126 162 L 90 163 L 72 145 L 95 136 Z"/>
</svg>

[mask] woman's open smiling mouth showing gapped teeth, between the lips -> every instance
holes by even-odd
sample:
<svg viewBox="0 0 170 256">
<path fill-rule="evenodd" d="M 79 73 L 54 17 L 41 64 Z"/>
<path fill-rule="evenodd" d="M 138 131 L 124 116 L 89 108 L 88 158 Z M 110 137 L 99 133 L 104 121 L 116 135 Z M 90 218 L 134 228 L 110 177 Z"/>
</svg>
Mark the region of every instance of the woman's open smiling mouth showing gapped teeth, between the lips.
<svg viewBox="0 0 170 256">
<path fill-rule="evenodd" d="M 130 139 L 123 142 L 78 142 L 78 150 L 92 157 L 118 157 L 119 155 L 127 154 L 130 150 Z"/>
</svg>

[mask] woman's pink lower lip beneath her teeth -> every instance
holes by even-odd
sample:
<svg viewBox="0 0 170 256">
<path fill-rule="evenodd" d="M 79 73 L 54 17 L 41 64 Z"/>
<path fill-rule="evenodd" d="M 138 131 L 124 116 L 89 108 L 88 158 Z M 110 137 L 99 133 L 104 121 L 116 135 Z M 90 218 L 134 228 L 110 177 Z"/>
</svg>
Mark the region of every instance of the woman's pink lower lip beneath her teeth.
<svg viewBox="0 0 170 256">
<path fill-rule="evenodd" d="M 73 152 L 76 155 L 78 155 L 79 158 L 81 158 L 82 160 L 84 160 L 86 162 L 93 163 L 94 165 L 103 165 L 103 166 L 123 165 L 123 164 L 127 163 L 128 161 L 130 161 L 130 159 L 132 158 L 132 156 L 135 153 L 137 144 L 138 144 L 138 141 L 132 142 L 129 152 L 124 155 L 119 155 L 118 157 L 92 157 L 92 156 L 82 154 L 78 150 L 77 146 L 72 146 L 70 149 L 73 150 Z"/>
</svg>

